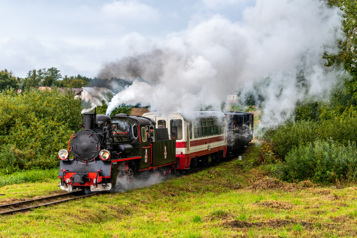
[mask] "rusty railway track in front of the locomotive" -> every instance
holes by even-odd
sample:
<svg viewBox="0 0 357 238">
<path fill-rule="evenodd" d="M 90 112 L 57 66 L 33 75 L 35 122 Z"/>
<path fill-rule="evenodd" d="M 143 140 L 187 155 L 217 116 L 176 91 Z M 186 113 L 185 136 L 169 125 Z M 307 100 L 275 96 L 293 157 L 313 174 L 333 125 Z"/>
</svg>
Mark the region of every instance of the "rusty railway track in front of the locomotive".
<svg viewBox="0 0 357 238">
<path fill-rule="evenodd" d="M 91 197 L 97 194 L 98 193 L 91 193 L 91 194 L 84 195 L 83 191 L 75 191 L 75 192 L 63 193 L 63 194 L 58 194 L 58 195 L 53 195 L 43 198 L 21 201 L 13 204 L 3 204 L 0 205 L 0 215 L 24 212 L 26 210 L 38 208 L 41 206 L 49 206 L 53 204 L 64 203 L 79 198 Z"/>
</svg>

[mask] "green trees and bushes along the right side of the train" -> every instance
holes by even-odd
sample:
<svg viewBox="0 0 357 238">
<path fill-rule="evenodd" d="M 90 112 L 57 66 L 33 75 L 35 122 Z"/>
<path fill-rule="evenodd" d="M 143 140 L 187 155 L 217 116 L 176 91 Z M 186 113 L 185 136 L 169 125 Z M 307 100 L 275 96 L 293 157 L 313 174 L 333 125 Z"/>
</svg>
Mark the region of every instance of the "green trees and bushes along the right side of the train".
<svg viewBox="0 0 357 238">
<path fill-rule="evenodd" d="M 357 4 L 355 0 L 326 0 L 340 7 L 345 38 L 338 53 L 324 52 L 325 66 L 348 72 L 337 78 L 329 102 L 299 102 L 295 118 L 263 137 L 259 162 L 289 182 L 357 181 Z"/>
</svg>

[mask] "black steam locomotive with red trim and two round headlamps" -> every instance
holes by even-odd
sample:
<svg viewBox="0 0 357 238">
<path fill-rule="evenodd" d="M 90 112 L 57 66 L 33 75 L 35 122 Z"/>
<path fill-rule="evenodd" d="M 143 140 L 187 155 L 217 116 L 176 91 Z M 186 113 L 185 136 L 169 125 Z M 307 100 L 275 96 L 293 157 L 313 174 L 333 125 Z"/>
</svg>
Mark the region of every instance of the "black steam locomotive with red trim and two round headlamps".
<svg viewBox="0 0 357 238">
<path fill-rule="evenodd" d="M 175 139 L 167 128 L 155 128 L 153 119 L 117 114 L 85 114 L 84 129 L 73 134 L 68 150 L 58 153 L 58 177 L 63 190 L 110 190 L 117 177 L 130 182 L 175 170 Z M 153 128 L 153 134 L 150 134 Z"/>
</svg>

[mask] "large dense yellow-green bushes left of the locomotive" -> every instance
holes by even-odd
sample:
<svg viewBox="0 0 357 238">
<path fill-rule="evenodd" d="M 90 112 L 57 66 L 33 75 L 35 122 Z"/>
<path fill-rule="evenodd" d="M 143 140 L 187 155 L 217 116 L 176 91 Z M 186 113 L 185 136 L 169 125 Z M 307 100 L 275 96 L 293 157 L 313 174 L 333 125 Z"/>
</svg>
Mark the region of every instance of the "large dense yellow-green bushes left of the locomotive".
<svg viewBox="0 0 357 238">
<path fill-rule="evenodd" d="M 81 101 L 73 94 L 55 89 L 0 93 L 2 173 L 58 166 L 58 151 L 67 148 L 81 122 Z"/>
</svg>

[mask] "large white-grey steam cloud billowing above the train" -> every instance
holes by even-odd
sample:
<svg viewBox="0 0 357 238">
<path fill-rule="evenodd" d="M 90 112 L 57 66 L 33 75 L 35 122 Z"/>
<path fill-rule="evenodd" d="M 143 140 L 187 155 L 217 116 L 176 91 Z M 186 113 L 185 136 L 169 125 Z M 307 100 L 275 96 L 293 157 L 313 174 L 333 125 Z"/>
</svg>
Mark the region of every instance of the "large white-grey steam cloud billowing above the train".
<svg viewBox="0 0 357 238">
<path fill-rule="evenodd" d="M 109 102 L 107 114 L 139 102 L 153 111 L 221 110 L 228 92 L 244 95 L 259 84 L 261 124 L 275 126 L 298 100 L 329 93 L 336 73 L 326 70 L 322 55 L 337 50 L 339 13 L 318 0 L 257 0 L 242 21 L 216 15 L 191 24 L 146 52 L 103 66 L 99 78 L 132 81 Z"/>
</svg>

